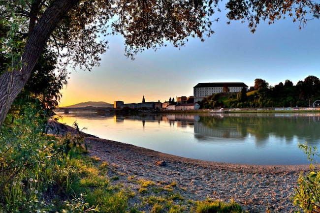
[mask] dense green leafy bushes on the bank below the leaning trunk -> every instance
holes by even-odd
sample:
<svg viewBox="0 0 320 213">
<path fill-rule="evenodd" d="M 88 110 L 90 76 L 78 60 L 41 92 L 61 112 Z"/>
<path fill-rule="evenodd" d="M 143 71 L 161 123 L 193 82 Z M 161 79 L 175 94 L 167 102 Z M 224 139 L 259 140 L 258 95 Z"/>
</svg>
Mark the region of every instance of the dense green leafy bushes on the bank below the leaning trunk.
<svg viewBox="0 0 320 213">
<path fill-rule="evenodd" d="M 65 199 L 62 209 L 86 207 L 77 192 L 78 171 L 69 160 L 84 150 L 79 136 L 46 135 L 47 118 L 27 103 L 14 122 L 7 119 L 0 134 L 0 209 L 4 213 L 50 209 L 52 195 Z M 10 117 L 12 115 L 9 115 Z M 70 144 L 69 141 L 72 143 Z M 81 143 L 81 147 L 79 144 Z M 41 198 L 41 199 L 40 199 Z M 49 203 L 44 202 L 45 198 Z M 67 207 L 67 208 L 66 208 Z"/>
</svg>

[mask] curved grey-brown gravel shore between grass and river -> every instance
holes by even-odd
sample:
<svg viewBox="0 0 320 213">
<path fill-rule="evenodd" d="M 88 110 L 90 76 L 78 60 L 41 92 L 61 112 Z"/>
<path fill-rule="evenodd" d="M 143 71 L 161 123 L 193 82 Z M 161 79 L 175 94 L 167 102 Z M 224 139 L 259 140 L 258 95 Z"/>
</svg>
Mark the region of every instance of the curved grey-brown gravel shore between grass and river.
<svg viewBox="0 0 320 213">
<path fill-rule="evenodd" d="M 116 169 L 119 182 L 138 189 L 128 177 L 155 183 L 177 183 L 187 199 L 232 199 L 244 211 L 293 213 L 294 187 L 309 165 L 255 166 L 178 157 L 120 142 L 86 137 L 89 155 Z"/>
</svg>

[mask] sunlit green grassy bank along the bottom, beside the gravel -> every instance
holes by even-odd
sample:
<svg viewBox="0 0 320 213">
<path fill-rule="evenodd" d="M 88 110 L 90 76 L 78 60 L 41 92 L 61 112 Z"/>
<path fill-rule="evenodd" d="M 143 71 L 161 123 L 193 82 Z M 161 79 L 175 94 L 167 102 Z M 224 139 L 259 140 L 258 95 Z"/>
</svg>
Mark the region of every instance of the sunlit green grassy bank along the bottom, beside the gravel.
<svg viewBox="0 0 320 213">
<path fill-rule="evenodd" d="M 0 212 L 241 212 L 234 202 L 189 200 L 179 194 L 183 189 L 179 189 L 177 183 L 155 183 L 130 176 L 128 180 L 139 185 L 138 190 L 134 190 L 119 182 L 119 176 L 124 174 L 115 167 L 89 157 L 82 145 L 77 145 L 77 150 L 81 153 L 72 158 L 68 155 L 57 164 L 47 162 L 37 172 L 26 169 L 8 182 L 1 193 Z"/>
</svg>

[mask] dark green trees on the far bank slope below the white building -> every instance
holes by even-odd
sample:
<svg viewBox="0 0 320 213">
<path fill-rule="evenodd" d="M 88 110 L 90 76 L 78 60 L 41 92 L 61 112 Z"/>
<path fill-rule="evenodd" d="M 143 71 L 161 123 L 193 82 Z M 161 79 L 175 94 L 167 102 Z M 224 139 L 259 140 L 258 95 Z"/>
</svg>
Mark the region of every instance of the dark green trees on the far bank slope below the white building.
<svg viewBox="0 0 320 213">
<path fill-rule="evenodd" d="M 255 86 L 249 91 L 243 88 L 238 93 L 216 93 L 199 102 L 202 108 L 256 108 L 256 107 L 308 107 L 320 99 L 320 80 L 308 76 L 296 85 L 286 80 L 275 86 L 269 86 L 263 79 L 257 78 Z"/>
</svg>

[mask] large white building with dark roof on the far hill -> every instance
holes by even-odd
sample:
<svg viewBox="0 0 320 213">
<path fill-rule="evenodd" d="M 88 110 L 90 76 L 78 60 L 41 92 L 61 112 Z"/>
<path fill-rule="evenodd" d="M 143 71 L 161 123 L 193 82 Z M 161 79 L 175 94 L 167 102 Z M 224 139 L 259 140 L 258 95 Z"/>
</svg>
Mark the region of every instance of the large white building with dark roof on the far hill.
<svg viewBox="0 0 320 213">
<path fill-rule="evenodd" d="M 224 87 L 229 89 L 229 92 L 239 92 L 242 88 L 248 86 L 244 83 L 199 83 L 193 87 L 194 102 L 201 101 L 208 95 L 224 92 Z"/>
</svg>

